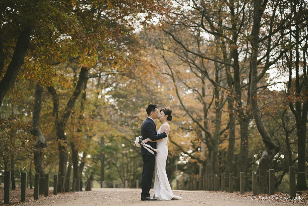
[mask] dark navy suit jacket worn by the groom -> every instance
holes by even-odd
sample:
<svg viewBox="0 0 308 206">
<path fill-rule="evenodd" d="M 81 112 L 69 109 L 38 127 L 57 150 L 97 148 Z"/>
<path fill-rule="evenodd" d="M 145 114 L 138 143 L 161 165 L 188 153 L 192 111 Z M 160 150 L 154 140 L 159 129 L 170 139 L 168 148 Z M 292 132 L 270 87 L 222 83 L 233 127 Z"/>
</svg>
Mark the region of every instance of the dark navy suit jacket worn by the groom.
<svg viewBox="0 0 308 206">
<path fill-rule="evenodd" d="M 156 140 L 160 140 L 162 138 L 167 137 L 167 134 L 166 134 L 166 132 L 163 132 L 161 134 L 157 134 L 156 125 L 155 125 L 154 121 L 151 120 L 150 118 L 147 118 L 146 120 L 144 120 L 144 122 L 141 125 L 141 136 L 144 140 L 147 139 L 147 138 L 150 138 L 152 141 L 156 141 Z M 156 149 L 156 143 L 157 142 L 148 141 L 146 144 L 151 145 L 152 148 Z M 154 154 L 156 154 L 155 151 L 153 151 L 153 152 L 154 152 Z M 153 155 L 153 154 L 150 153 L 143 146 L 141 146 L 141 155 Z"/>
</svg>

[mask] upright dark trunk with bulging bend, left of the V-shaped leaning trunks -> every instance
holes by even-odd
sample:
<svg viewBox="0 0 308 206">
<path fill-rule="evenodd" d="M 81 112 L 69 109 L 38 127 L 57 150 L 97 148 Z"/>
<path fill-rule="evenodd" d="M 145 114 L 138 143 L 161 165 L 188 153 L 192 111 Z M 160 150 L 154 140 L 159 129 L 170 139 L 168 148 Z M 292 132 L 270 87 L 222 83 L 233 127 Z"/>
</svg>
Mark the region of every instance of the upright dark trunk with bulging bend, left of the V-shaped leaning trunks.
<svg viewBox="0 0 308 206">
<path fill-rule="evenodd" d="M 34 168 L 35 172 L 40 174 L 40 177 L 45 177 L 45 169 L 43 163 L 43 148 L 46 147 L 45 138 L 39 128 L 39 117 L 42 109 L 42 93 L 43 88 L 36 83 L 34 93 L 34 108 L 32 117 L 31 134 L 37 139 L 34 143 Z M 39 181 L 39 194 L 44 194 L 45 179 Z"/>
</svg>

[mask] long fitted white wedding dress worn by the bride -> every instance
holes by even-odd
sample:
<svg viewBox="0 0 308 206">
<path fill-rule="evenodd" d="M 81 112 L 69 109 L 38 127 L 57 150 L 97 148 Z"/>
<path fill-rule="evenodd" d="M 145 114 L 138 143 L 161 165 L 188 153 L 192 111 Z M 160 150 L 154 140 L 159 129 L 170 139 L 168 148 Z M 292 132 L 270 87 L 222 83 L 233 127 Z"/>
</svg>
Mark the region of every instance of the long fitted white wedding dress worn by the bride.
<svg viewBox="0 0 308 206">
<path fill-rule="evenodd" d="M 161 126 L 157 131 L 160 134 Z M 166 173 L 166 160 L 168 158 L 168 134 L 162 141 L 157 142 L 157 149 L 155 158 L 155 180 L 154 192 L 152 198 L 156 200 L 180 200 L 181 197 L 173 195 L 167 173 Z"/>
</svg>

